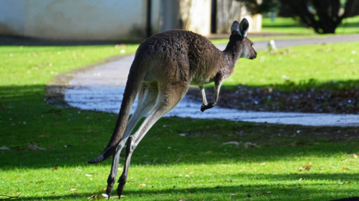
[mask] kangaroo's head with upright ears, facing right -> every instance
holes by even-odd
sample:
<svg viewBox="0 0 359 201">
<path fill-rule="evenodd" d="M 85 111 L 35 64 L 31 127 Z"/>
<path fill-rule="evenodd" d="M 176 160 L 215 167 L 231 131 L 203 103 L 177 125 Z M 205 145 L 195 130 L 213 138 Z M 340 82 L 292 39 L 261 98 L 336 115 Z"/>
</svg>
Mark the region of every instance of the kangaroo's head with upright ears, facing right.
<svg viewBox="0 0 359 201">
<path fill-rule="evenodd" d="M 247 38 L 249 23 L 246 18 L 243 18 L 241 24 L 234 21 L 231 28 L 231 34 L 235 35 L 242 46 L 241 58 L 254 59 L 257 57 L 257 52 L 253 48 L 253 42 Z"/>
</svg>

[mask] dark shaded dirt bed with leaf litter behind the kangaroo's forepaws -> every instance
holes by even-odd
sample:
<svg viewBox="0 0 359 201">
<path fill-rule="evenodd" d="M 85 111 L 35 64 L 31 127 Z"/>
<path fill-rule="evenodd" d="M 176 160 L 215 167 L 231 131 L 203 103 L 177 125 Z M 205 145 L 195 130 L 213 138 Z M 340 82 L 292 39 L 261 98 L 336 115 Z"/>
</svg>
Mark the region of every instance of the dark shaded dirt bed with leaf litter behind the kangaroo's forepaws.
<svg viewBox="0 0 359 201">
<path fill-rule="evenodd" d="M 206 90 L 206 94 L 210 101 L 214 97 L 213 89 Z M 202 101 L 198 90 L 189 90 L 187 97 Z M 251 111 L 359 114 L 359 90 L 353 87 L 285 92 L 240 85 L 235 90 L 221 89 L 218 105 Z"/>
</svg>

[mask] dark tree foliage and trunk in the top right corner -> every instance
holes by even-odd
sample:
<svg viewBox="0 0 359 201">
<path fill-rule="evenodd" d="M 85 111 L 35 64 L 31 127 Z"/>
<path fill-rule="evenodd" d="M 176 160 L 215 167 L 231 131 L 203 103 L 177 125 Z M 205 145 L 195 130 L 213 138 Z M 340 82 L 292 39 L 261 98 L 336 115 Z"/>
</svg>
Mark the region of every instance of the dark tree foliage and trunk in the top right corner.
<svg viewBox="0 0 359 201">
<path fill-rule="evenodd" d="M 359 14 L 359 0 L 242 0 L 253 13 L 273 11 L 278 6 L 286 16 L 299 17 L 317 33 L 334 33 L 342 20 Z"/>
</svg>

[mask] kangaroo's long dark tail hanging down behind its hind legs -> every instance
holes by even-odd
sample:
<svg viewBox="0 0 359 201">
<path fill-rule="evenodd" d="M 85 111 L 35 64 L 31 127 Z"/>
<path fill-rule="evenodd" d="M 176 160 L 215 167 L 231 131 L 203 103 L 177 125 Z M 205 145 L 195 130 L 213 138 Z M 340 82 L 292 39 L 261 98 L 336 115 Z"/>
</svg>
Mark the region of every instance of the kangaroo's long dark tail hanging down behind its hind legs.
<svg viewBox="0 0 359 201">
<path fill-rule="evenodd" d="M 112 155 L 116 150 L 119 141 L 123 137 L 125 128 L 127 126 L 128 118 L 130 116 L 131 107 L 139 91 L 139 88 L 141 87 L 142 78 L 143 78 L 142 73 L 138 72 L 136 68 L 137 65 L 135 63 L 136 63 L 136 59 L 135 61 L 133 61 L 133 64 L 130 68 L 130 73 L 128 74 L 125 93 L 122 99 L 121 109 L 119 110 L 116 126 L 115 129 L 113 130 L 110 142 L 108 143 L 105 150 L 99 156 L 93 158 L 92 160 L 89 160 L 88 163 L 90 164 L 102 162 L 103 160 L 110 157 L 110 155 Z"/>
</svg>

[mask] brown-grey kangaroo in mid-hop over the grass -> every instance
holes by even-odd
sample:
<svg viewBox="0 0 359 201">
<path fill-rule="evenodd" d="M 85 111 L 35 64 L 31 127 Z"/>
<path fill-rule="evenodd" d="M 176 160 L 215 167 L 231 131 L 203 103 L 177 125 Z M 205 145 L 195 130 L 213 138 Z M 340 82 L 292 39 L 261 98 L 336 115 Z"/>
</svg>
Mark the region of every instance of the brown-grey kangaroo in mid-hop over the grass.
<svg viewBox="0 0 359 201">
<path fill-rule="evenodd" d="M 234 21 L 224 51 L 218 50 L 206 37 L 185 30 L 158 33 L 139 45 L 110 142 L 101 155 L 88 162 L 99 163 L 113 154 L 106 189 L 109 198 L 117 175 L 119 154 L 126 141 L 124 169 L 118 180 L 119 197 L 124 190 L 133 150 L 153 124 L 177 105 L 189 85 L 200 88 L 202 112 L 217 105 L 222 82 L 232 74 L 238 59 L 254 59 L 257 55 L 253 43 L 247 38 L 248 27 L 246 18 L 241 23 Z M 213 102 L 207 103 L 203 86 L 211 82 L 215 84 L 215 95 Z M 137 94 L 138 105 L 128 120 Z M 148 112 L 142 125 L 130 136 L 136 124 Z"/>
</svg>

